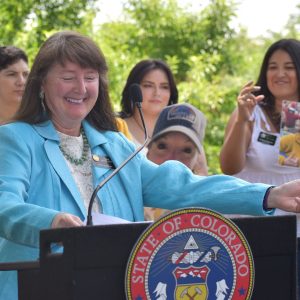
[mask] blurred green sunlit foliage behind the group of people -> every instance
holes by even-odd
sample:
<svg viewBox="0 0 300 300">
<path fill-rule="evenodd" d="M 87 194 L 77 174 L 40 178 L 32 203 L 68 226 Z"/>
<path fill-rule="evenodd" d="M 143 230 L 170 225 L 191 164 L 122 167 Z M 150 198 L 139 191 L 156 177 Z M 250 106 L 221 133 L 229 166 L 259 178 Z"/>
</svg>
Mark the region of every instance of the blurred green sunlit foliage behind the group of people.
<svg viewBox="0 0 300 300">
<path fill-rule="evenodd" d="M 123 0 L 120 20 L 101 23 L 98 0 L 4 0 L 0 44 L 26 50 L 30 61 L 52 33 L 71 29 L 92 37 L 109 64 L 110 94 L 116 111 L 130 69 L 144 58 L 171 66 L 180 102 L 190 102 L 208 119 L 205 137 L 209 173 L 220 173 L 218 155 L 224 129 L 240 88 L 256 80 L 267 47 L 283 37 L 299 38 L 299 8 L 285 30 L 250 38 L 233 29 L 237 4 L 210 0 L 200 12 L 176 0 Z M 267 16 L 266 16 L 267 17 Z M 254 20 L 255 22 L 255 20 Z"/>
</svg>

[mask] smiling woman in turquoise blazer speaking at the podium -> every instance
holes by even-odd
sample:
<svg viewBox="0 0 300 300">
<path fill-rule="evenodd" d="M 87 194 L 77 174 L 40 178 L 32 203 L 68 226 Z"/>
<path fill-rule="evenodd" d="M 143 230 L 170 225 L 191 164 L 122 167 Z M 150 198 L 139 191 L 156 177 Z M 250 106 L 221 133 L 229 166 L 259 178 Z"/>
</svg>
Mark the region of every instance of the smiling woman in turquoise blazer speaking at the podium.
<svg viewBox="0 0 300 300">
<path fill-rule="evenodd" d="M 38 259 L 41 229 L 82 226 L 91 189 L 112 172 L 97 158 L 117 167 L 135 150 L 116 132 L 106 71 L 98 47 L 80 34 L 56 33 L 41 47 L 15 122 L 0 127 L 0 262 Z M 83 143 L 80 158 L 63 148 L 74 138 L 73 147 Z M 90 173 L 82 179 L 84 164 Z M 129 221 L 143 220 L 143 206 L 267 215 L 268 208 L 299 210 L 299 186 L 270 190 L 230 176 L 201 177 L 179 162 L 158 166 L 138 154 L 96 201 L 100 212 Z M 0 287 L 0 299 L 17 299 L 16 272 L 0 272 Z"/>
</svg>

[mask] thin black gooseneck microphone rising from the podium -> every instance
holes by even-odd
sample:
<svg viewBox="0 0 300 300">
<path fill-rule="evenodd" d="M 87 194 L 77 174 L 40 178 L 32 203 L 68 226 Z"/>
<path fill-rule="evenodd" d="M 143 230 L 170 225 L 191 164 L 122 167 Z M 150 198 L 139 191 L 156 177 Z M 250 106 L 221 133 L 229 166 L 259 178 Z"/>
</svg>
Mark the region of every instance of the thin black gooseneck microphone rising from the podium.
<svg viewBox="0 0 300 300">
<path fill-rule="evenodd" d="M 142 101 L 143 101 L 143 95 L 142 95 L 142 91 L 140 88 L 140 85 L 137 83 L 133 83 L 130 87 L 129 87 L 129 97 L 130 100 L 134 103 L 134 105 L 137 107 L 138 111 L 139 111 L 139 115 L 142 121 L 142 125 L 143 125 L 143 129 L 144 129 L 144 133 L 145 133 L 145 140 L 144 143 L 139 146 L 127 159 L 125 159 L 112 173 L 110 173 L 109 176 L 107 176 L 103 181 L 101 181 L 96 189 L 94 190 L 90 202 L 89 202 L 89 207 L 88 207 L 88 214 L 87 214 L 87 222 L 86 225 L 87 226 L 92 226 L 93 225 L 93 217 L 92 217 L 92 208 L 93 208 L 93 204 L 95 201 L 95 198 L 97 196 L 97 193 L 99 192 L 99 190 L 109 181 L 111 180 L 117 173 L 119 173 L 119 171 L 127 165 L 127 163 L 129 163 L 140 151 L 142 151 L 144 149 L 144 147 L 146 146 L 146 144 L 148 143 L 148 132 L 147 132 L 147 128 L 145 125 L 145 120 L 144 120 L 144 116 L 143 116 L 143 112 L 142 112 Z"/>
</svg>

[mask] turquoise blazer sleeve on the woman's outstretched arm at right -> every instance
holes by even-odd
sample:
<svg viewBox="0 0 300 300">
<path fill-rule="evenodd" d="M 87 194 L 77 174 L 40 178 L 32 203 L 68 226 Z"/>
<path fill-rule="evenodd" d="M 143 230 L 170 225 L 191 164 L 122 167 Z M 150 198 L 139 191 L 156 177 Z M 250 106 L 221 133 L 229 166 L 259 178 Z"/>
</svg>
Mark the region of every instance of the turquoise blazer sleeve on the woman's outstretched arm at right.
<svg viewBox="0 0 300 300">
<path fill-rule="evenodd" d="M 177 209 L 205 207 L 220 213 L 268 215 L 263 198 L 269 185 L 252 184 L 232 176 L 197 176 L 177 161 L 157 166 L 142 163 L 144 205 Z"/>
</svg>

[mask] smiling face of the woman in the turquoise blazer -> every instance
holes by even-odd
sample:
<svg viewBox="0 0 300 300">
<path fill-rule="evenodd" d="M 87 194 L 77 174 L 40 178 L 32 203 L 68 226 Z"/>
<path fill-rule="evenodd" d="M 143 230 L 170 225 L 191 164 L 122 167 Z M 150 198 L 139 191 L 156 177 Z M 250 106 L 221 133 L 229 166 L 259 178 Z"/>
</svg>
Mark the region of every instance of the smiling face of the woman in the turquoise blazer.
<svg viewBox="0 0 300 300">
<path fill-rule="evenodd" d="M 99 93 L 99 73 L 92 68 L 66 62 L 49 70 L 42 89 L 50 118 L 57 130 L 75 135 L 82 120 L 94 107 Z"/>
</svg>

